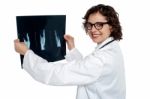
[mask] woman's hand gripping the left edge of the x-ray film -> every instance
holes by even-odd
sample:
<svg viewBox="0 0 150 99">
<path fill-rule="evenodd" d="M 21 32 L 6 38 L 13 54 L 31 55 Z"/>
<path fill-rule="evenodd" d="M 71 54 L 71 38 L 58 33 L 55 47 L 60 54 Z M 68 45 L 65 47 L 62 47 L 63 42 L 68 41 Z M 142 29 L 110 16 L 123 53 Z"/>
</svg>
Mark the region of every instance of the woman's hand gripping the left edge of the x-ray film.
<svg viewBox="0 0 150 99">
<path fill-rule="evenodd" d="M 25 43 L 20 42 L 19 39 L 14 40 L 14 47 L 15 51 L 20 53 L 21 55 L 25 55 L 27 50 L 29 50 L 28 47 L 25 45 Z"/>
</svg>

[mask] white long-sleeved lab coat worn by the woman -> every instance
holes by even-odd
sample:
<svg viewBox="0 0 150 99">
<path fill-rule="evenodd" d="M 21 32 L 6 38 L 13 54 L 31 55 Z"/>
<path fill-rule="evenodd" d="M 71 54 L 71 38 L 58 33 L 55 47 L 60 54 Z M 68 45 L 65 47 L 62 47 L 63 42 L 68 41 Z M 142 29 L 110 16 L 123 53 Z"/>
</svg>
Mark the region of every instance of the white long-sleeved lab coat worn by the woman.
<svg viewBox="0 0 150 99">
<path fill-rule="evenodd" d="M 125 99 L 123 56 L 117 41 L 108 38 L 85 58 L 77 49 L 67 63 L 47 62 L 28 50 L 23 68 L 37 81 L 49 85 L 78 85 L 77 99 Z M 100 49 L 101 48 L 101 49 Z"/>
</svg>

